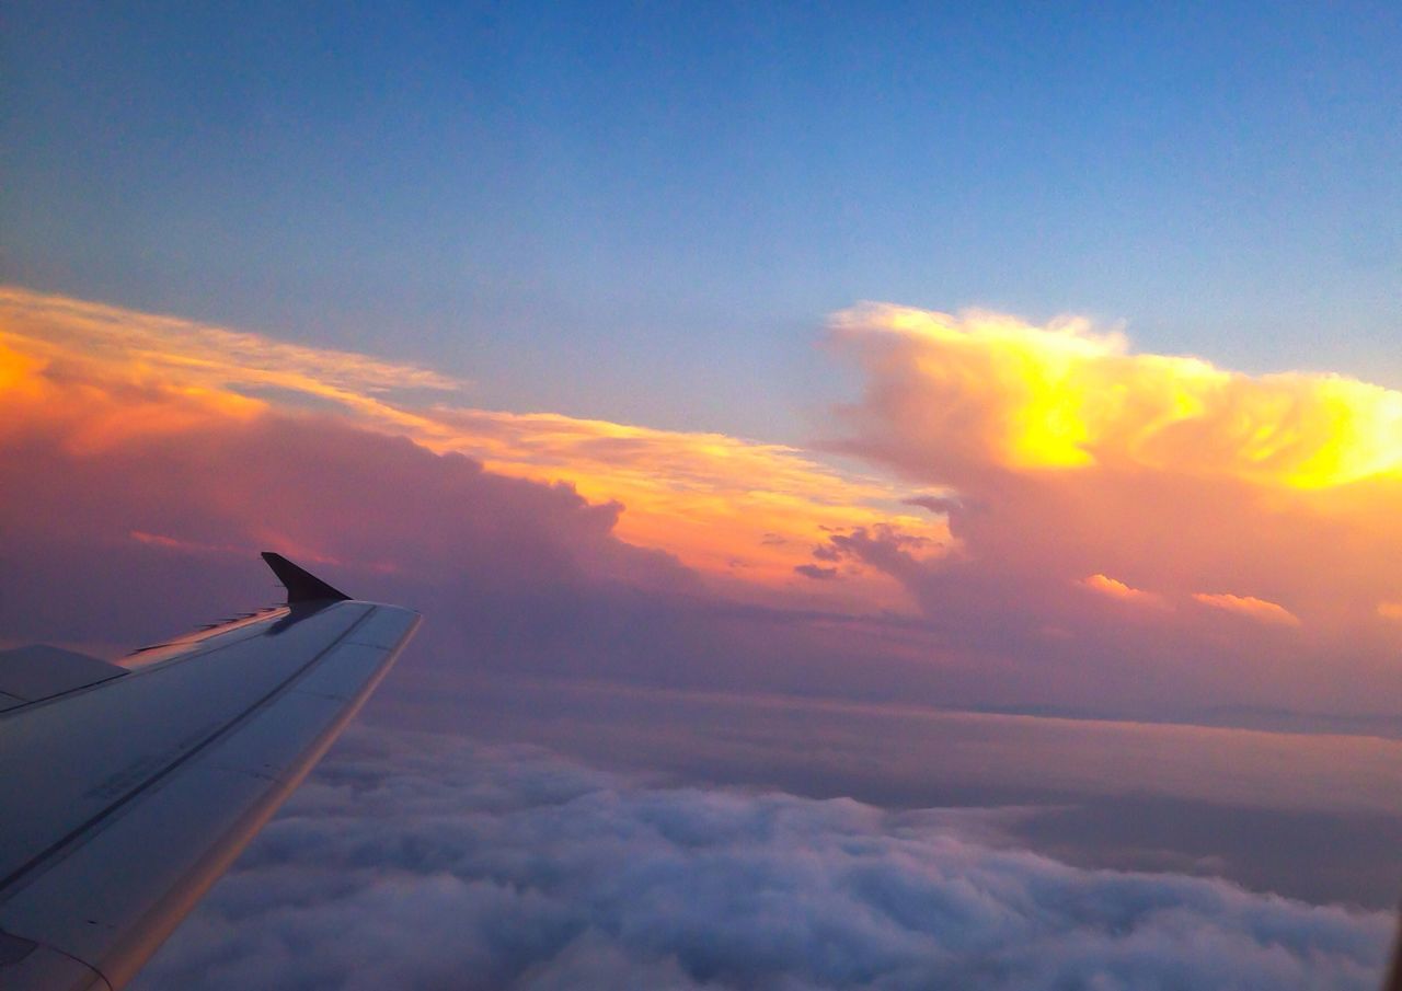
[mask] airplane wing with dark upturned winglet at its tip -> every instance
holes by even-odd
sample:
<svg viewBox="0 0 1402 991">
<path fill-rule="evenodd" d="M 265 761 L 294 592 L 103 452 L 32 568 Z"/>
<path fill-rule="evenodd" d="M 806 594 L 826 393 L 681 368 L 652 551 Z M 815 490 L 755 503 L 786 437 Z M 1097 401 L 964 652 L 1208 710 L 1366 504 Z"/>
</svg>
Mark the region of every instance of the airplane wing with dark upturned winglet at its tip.
<svg viewBox="0 0 1402 991">
<path fill-rule="evenodd" d="M 0 988 L 126 984 L 418 627 L 264 558 L 285 607 L 121 664 L 24 650 L 0 663 Z"/>
</svg>

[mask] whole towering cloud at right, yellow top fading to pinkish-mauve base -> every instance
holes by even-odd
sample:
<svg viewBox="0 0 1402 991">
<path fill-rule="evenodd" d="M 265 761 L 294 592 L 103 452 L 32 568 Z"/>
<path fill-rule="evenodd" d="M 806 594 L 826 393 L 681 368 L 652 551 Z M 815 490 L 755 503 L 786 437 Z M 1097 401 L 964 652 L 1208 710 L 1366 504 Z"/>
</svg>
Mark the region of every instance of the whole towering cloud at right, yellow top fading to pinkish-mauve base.
<svg viewBox="0 0 1402 991">
<path fill-rule="evenodd" d="M 946 554 L 921 561 L 876 527 L 852 551 L 1029 704 L 1033 684 L 1059 691 L 1054 670 L 1144 705 L 1227 692 L 1361 712 L 1402 690 L 1375 614 L 1402 559 L 1402 392 L 1136 353 L 1075 318 L 872 304 L 831 336 L 862 373 L 834 449 L 956 495 L 937 503 Z M 1204 610 L 1147 624 L 1084 594 L 1129 601 L 1124 575 L 1165 603 L 1251 589 L 1288 610 L 1210 600 L 1262 620 L 1228 632 Z M 1283 642 L 1276 624 L 1301 634 Z M 1263 684 L 1251 671 L 1267 655 Z"/>
</svg>

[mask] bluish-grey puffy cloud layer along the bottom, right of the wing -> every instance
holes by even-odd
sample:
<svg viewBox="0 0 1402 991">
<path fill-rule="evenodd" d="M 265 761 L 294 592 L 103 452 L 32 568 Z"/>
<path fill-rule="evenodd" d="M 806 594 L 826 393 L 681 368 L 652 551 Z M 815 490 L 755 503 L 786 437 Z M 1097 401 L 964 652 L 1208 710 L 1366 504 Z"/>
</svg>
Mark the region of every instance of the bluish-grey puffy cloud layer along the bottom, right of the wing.
<svg viewBox="0 0 1402 991">
<path fill-rule="evenodd" d="M 1388 914 L 994 835 L 352 730 L 135 987 L 1375 985 Z"/>
</svg>

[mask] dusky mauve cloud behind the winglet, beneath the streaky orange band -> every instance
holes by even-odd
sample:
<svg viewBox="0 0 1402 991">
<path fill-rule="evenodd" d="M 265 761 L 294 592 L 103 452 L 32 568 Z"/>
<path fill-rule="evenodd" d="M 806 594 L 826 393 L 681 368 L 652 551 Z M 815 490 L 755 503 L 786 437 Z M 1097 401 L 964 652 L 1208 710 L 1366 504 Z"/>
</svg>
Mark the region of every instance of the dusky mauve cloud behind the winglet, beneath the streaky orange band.
<svg viewBox="0 0 1402 991">
<path fill-rule="evenodd" d="M 178 429 L 94 446 L 88 430 L 115 392 L 90 380 L 43 385 L 63 399 L 56 415 L 0 437 L 7 636 L 135 646 L 213 610 L 266 604 L 271 589 L 238 577 L 265 577 L 265 548 L 339 572 L 358 594 L 433 607 L 449 629 L 495 607 L 499 635 L 510 615 L 540 613 L 536 628 L 548 629 L 617 590 L 697 590 L 670 555 L 618 540 L 617 503 L 566 485 L 494 474 L 342 418 L 200 416 L 205 397 L 156 387 L 146 402 Z"/>
</svg>

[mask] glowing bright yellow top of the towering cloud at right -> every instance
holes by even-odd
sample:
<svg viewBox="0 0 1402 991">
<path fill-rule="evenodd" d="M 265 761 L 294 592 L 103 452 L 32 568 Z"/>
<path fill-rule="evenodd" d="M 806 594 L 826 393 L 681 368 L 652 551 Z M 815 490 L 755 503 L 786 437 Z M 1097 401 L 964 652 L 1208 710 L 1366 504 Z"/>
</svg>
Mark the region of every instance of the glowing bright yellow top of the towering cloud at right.
<svg viewBox="0 0 1402 991">
<path fill-rule="evenodd" d="M 1402 392 L 1329 374 L 1260 377 L 1134 355 L 1087 321 L 1033 327 L 871 304 L 838 314 L 883 404 L 925 453 L 1016 471 L 1129 464 L 1297 489 L 1402 477 Z"/>
</svg>

